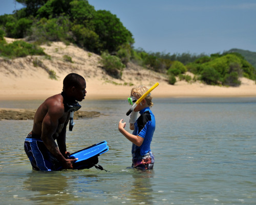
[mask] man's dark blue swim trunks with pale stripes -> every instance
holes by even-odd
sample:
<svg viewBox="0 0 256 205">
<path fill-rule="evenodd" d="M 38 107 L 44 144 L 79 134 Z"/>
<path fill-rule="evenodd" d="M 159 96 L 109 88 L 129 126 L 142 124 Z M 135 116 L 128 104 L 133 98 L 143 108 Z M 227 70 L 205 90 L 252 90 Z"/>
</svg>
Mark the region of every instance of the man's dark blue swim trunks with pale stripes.
<svg viewBox="0 0 256 205">
<path fill-rule="evenodd" d="M 57 171 L 62 169 L 61 163 L 46 148 L 40 136 L 29 134 L 25 139 L 24 149 L 33 170 Z"/>
</svg>

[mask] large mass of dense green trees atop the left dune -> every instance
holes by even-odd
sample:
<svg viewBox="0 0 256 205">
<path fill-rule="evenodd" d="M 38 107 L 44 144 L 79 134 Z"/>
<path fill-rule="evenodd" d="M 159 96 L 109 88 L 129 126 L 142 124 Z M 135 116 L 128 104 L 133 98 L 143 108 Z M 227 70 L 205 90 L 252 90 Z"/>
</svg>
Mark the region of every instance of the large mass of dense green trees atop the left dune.
<svg viewBox="0 0 256 205">
<path fill-rule="evenodd" d="M 26 7 L 0 16 L 0 25 L 10 38 L 37 43 L 64 41 L 91 52 L 115 53 L 134 39 L 119 18 L 109 11 L 96 11 L 87 0 L 16 0 Z"/>
</svg>

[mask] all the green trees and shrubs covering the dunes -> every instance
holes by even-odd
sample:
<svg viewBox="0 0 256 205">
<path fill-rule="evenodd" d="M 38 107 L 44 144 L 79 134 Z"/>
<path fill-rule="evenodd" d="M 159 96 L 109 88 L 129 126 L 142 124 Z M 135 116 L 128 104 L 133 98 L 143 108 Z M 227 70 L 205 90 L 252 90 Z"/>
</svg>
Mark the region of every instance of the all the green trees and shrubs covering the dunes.
<svg viewBox="0 0 256 205">
<path fill-rule="evenodd" d="M 241 50 L 230 50 L 210 56 L 148 53 L 143 49 L 134 49 L 132 33 L 116 15 L 105 10 L 96 11 L 87 0 L 16 2 L 22 3 L 25 8 L 0 16 L 0 56 L 45 55 L 37 45 L 63 41 L 101 55 L 102 68 L 118 79 L 122 76 L 122 69 L 132 61 L 146 69 L 166 74 L 171 85 L 175 84 L 177 78 L 225 86 L 239 86 L 241 76 L 256 80 L 256 70 L 250 64 L 253 64 L 255 55 L 248 57 L 251 54 L 248 52 L 240 55 Z M 15 41 L 7 44 L 4 36 L 25 38 L 33 43 Z M 63 56 L 63 60 L 73 62 L 69 56 Z M 186 71 L 194 73 L 194 79 L 186 75 Z"/>
</svg>

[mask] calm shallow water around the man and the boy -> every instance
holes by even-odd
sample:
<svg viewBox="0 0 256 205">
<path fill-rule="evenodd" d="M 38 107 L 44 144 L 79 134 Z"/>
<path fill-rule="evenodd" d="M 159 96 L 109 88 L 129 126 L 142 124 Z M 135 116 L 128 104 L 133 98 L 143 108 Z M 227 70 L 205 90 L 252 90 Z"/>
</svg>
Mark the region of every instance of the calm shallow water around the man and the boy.
<svg viewBox="0 0 256 205">
<path fill-rule="evenodd" d="M 5 108 L 37 108 L 41 101 L 0 101 Z M 0 121 L 1 204 L 255 204 L 256 98 L 155 99 L 154 170 L 131 166 L 131 143 L 117 129 L 126 100 L 88 100 L 75 120 L 70 152 L 108 141 L 96 168 L 32 171 L 23 144 L 32 120 Z"/>
</svg>

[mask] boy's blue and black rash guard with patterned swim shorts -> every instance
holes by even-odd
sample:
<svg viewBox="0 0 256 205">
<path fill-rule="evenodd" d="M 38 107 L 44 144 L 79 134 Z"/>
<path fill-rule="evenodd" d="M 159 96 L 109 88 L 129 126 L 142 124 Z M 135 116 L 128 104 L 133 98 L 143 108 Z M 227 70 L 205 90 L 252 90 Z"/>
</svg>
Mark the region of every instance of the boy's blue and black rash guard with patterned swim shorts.
<svg viewBox="0 0 256 205">
<path fill-rule="evenodd" d="M 155 116 L 149 107 L 140 111 L 140 117 L 134 123 L 133 135 L 142 137 L 143 143 L 141 146 L 133 144 L 132 167 L 138 169 L 152 169 L 154 166 L 154 155 L 151 151 L 150 144 L 155 131 L 156 121 Z"/>
</svg>

